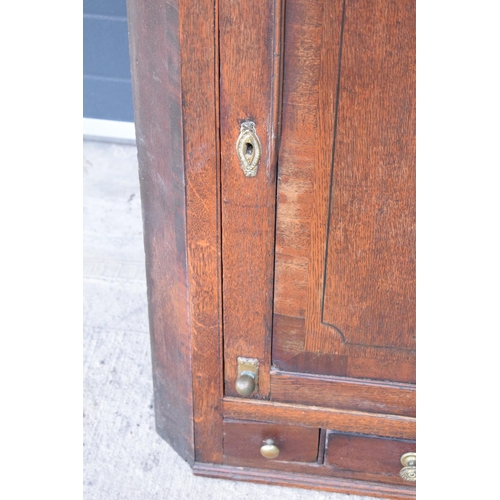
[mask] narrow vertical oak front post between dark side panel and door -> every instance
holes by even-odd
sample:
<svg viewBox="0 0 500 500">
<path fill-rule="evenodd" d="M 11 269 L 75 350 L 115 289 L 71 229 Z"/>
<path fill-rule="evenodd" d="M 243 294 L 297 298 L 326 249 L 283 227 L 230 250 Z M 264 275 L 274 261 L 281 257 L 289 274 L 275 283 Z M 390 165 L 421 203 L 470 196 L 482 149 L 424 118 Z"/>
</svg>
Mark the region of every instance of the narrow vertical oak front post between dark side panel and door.
<svg viewBox="0 0 500 500">
<path fill-rule="evenodd" d="M 213 0 L 181 2 L 181 74 L 186 170 L 196 460 L 222 461 L 217 17 Z M 193 58 L 193 54 L 197 57 Z"/>
</svg>

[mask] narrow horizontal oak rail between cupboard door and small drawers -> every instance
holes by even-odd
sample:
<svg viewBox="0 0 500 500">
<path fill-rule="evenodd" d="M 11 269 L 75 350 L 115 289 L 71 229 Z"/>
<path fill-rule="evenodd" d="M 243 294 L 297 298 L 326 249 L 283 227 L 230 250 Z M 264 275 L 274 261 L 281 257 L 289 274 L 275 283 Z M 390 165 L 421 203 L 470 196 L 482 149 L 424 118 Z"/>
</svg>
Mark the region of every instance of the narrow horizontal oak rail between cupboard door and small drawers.
<svg viewBox="0 0 500 500">
<path fill-rule="evenodd" d="M 234 420 L 296 424 L 339 432 L 415 439 L 415 419 L 411 417 L 237 398 L 225 398 L 223 409 L 225 418 Z"/>
</svg>

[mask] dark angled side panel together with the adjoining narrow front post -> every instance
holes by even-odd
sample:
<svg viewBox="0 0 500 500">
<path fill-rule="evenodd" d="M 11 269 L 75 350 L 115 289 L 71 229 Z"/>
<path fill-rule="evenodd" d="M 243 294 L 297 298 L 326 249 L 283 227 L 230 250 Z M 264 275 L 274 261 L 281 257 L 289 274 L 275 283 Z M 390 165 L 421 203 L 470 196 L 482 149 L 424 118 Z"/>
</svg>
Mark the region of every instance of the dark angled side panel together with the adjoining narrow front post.
<svg viewBox="0 0 500 500">
<path fill-rule="evenodd" d="M 127 11 L 156 429 L 190 465 L 217 463 L 216 13 L 207 0 L 127 0 Z"/>
</svg>

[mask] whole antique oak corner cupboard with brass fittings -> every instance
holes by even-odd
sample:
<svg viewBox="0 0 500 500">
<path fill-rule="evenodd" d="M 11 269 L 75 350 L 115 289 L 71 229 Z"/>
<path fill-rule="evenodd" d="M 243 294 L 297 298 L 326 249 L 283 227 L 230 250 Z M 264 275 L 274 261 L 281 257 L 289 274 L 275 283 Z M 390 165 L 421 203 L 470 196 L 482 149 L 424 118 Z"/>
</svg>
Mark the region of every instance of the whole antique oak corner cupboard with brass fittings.
<svg viewBox="0 0 500 500">
<path fill-rule="evenodd" d="M 414 0 L 128 0 L 158 433 L 414 498 Z"/>
</svg>

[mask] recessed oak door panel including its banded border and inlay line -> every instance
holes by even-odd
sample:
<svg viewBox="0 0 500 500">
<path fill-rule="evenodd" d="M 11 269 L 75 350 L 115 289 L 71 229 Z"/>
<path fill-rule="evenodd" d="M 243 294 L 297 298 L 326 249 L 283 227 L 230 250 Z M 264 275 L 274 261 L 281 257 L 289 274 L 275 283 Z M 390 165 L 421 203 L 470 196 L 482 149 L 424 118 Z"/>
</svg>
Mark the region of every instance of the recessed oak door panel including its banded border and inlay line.
<svg viewBox="0 0 500 500">
<path fill-rule="evenodd" d="M 273 363 L 412 382 L 414 2 L 285 18 Z"/>
</svg>

